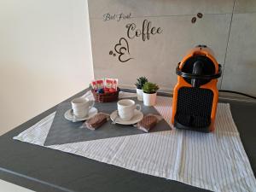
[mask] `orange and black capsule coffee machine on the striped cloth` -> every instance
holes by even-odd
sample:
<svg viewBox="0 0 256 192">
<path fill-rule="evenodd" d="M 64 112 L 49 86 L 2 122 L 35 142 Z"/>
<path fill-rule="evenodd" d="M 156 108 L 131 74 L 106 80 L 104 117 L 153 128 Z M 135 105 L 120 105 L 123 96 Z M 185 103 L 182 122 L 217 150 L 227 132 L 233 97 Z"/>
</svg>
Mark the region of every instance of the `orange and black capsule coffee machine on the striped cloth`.
<svg viewBox="0 0 256 192">
<path fill-rule="evenodd" d="M 214 130 L 221 66 L 206 45 L 198 45 L 177 64 L 172 125 L 178 129 Z"/>
</svg>

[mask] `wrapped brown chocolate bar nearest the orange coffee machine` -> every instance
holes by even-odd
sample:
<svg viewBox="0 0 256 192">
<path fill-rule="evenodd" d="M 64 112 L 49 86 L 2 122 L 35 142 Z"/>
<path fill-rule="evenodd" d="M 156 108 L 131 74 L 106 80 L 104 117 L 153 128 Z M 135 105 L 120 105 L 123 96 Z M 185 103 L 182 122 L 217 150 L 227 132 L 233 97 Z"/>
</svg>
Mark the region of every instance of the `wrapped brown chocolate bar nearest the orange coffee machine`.
<svg viewBox="0 0 256 192">
<path fill-rule="evenodd" d="M 143 119 L 135 125 L 137 129 L 144 132 L 149 132 L 155 125 L 163 119 L 160 115 L 149 113 L 143 117 Z"/>
</svg>

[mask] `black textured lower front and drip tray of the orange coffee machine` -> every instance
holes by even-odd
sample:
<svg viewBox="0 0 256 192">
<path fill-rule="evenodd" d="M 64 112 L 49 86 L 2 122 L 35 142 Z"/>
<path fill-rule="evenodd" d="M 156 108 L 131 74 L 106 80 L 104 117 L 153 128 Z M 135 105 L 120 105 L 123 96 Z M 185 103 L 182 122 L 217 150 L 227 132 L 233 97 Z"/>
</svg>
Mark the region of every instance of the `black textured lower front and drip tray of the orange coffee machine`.
<svg viewBox="0 0 256 192">
<path fill-rule="evenodd" d="M 174 125 L 178 129 L 209 132 L 212 113 L 212 90 L 182 87 L 177 91 Z"/>
</svg>

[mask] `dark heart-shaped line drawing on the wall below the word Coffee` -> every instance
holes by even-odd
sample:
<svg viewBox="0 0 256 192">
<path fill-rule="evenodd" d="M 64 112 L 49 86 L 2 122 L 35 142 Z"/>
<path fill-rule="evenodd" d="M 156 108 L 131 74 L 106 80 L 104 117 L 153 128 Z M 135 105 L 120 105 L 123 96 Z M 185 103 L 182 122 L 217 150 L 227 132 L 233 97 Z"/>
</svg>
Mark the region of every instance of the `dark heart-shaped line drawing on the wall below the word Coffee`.
<svg viewBox="0 0 256 192">
<path fill-rule="evenodd" d="M 130 57 L 129 44 L 125 38 L 119 39 L 119 43 L 114 46 L 114 50 L 119 54 L 119 61 L 121 62 L 133 59 Z"/>
</svg>

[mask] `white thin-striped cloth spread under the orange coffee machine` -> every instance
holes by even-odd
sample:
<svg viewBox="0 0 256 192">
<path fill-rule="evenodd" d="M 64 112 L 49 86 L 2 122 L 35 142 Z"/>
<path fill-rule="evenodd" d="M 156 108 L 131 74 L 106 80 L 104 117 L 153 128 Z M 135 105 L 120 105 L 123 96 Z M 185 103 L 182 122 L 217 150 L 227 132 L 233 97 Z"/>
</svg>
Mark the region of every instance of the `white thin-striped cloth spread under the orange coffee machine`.
<svg viewBox="0 0 256 192">
<path fill-rule="evenodd" d="M 125 97 L 124 93 L 121 96 Z M 155 108 L 170 123 L 172 98 L 158 97 Z M 50 114 L 15 139 L 44 146 L 54 117 L 55 113 Z M 256 179 L 232 119 L 229 104 L 218 103 L 215 125 L 215 131 L 207 134 L 172 129 L 51 145 L 48 148 L 202 189 L 256 191 Z"/>
</svg>

